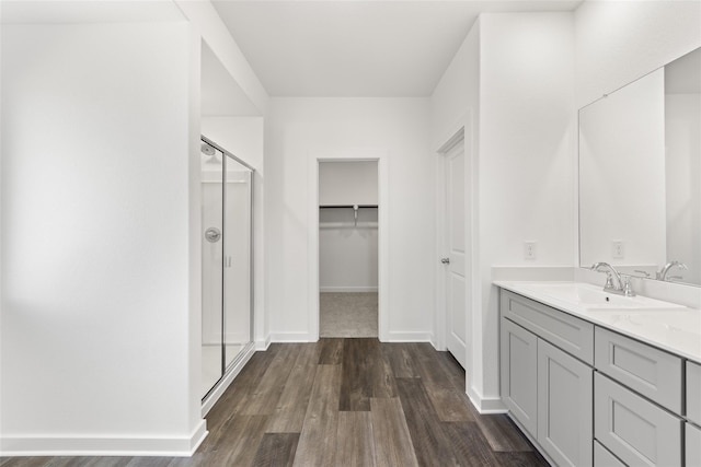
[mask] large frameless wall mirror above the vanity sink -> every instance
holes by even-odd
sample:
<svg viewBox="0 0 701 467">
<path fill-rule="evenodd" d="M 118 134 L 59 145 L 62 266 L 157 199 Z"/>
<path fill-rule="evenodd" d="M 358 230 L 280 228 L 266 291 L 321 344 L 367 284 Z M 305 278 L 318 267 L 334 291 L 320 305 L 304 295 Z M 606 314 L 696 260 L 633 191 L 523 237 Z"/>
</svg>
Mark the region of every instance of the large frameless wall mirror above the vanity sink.
<svg viewBox="0 0 701 467">
<path fill-rule="evenodd" d="M 701 285 L 701 48 L 579 109 L 579 265 L 596 261 Z"/>
</svg>

